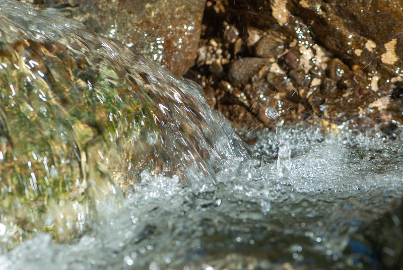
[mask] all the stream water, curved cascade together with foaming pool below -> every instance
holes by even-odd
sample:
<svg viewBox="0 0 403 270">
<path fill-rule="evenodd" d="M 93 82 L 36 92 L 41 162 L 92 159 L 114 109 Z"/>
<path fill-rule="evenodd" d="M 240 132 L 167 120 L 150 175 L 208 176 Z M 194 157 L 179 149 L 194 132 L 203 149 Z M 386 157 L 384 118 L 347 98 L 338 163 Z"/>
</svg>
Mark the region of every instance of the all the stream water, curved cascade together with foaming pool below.
<svg viewBox="0 0 403 270">
<path fill-rule="evenodd" d="M 376 128 L 363 134 L 341 126 L 338 134 L 324 134 L 316 126 L 301 124 L 287 130 L 279 126 L 276 133 L 248 133 L 256 140 L 250 156 L 228 122 L 209 110 L 195 84 L 175 79 L 52 10 L 38 13 L 11 1 L 0 1 L 0 7 L 1 38 L 7 41 L 0 53 L 7 65 L 0 70 L 2 82 L 7 82 L 0 86 L 0 136 L 6 145 L 0 152 L 1 270 L 378 265 L 371 246 L 360 238 L 360 228 L 390 211 L 403 196 L 402 127 L 392 141 Z M 4 28 L 18 30 L 18 35 L 10 38 Z M 12 40 L 31 43 L 25 46 Z M 60 42 L 47 43 L 51 40 Z M 27 53 L 32 50 L 41 52 L 41 57 L 33 59 Z M 74 62 L 71 70 L 65 67 L 70 61 Z M 86 65 L 94 68 L 86 70 Z M 80 72 L 83 69 L 88 74 Z M 31 82 L 26 76 L 31 76 Z M 14 127 L 20 123 L 26 133 Z M 39 135 L 50 146 L 35 146 Z M 26 144 L 28 152 L 18 148 Z M 11 191 L 9 179 L 3 178 L 14 172 L 10 168 L 18 168 L 21 177 L 16 179 L 22 183 Z M 76 179 L 69 178 L 72 175 L 77 176 L 77 186 Z M 83 187 L 83 175 L 89 187 Z M 57 180 L 53 186 L 45 181 L 52 177 Z M 59 185 L 62 188 L 57 190 Z M 69 187 L 74 198 L 74 188 L 80 186 L 90 193 L 90 203 L 63 197 L 71 194 L 64 193 Z M 62 193 L 60 198 L 54 190 Z M 119 190 L 124 194 L 119 195 Z M 41 198 L 50 204 L 40 204 Z M 78 221 L 81 234 L 57 241 L 41 227 L 42 232 L 9 250 L 15 235 L 25 236 L 7 219 L 20 211 L 27 213 L 16 199 L 38 211 L 29 218 L 47 224 L 47 229 L 56 221 L 64 224 L 61 229 Z M 53 212 L 40 218 L 39 210 L 44 209 L 36 207 L 52 203 Z M 8 211 L 5 206 L 13 207 Z M 57 212 L 65 209 L 75 219 L 68 219 L 66 211 Z M 349 249 L 356 242 L 361 251 Z"/>
</svg>

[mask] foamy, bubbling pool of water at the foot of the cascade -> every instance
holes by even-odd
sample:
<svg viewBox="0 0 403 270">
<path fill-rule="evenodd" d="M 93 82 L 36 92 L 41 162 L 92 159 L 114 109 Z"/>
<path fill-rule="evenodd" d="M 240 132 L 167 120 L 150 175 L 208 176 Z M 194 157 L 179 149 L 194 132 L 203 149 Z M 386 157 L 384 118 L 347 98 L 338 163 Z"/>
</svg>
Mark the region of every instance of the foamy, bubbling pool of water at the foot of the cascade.
<svg viewBox="0 0 403 270">
<path fill-rule="evenodd" d="M 302 126 L 254 135 L 256 158 L 229 160 L 216 185 L 183 187 L 177 176 L 143 172 L 123 207 L 99 202 L 102 214 L 81 239 L 57 244 L 40 234 L 0 256 L 0 269 L 365 266 L 364 255 L 345 249 L 401 197 L 401 140 Z M 291 166 L 280 177 L 281 138 Z"/>
</svg>

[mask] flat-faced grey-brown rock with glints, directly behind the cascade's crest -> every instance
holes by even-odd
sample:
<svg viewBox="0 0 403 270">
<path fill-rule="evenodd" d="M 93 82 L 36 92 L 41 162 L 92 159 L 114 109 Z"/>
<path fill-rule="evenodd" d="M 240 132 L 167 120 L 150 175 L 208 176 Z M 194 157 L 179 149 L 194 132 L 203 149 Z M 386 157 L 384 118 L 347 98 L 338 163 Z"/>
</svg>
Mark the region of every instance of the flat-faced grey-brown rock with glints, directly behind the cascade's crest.
<svg viewBox="0 0 403 270">
<path fill-rule="evenodd" d="M 57 8 L 91 30 L 122 41 L 181 77 L 194 64 L 206 0 L 25 2 Z"/>
</svg>

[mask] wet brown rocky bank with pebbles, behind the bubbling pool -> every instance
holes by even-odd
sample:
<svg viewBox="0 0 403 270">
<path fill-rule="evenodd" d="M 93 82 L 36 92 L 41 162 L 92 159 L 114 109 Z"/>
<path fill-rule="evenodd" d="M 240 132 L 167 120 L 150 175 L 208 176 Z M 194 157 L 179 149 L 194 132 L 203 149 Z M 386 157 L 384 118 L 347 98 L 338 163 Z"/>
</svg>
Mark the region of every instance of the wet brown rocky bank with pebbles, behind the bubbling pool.
<svg viewBox="0 0 403 270">
<path fill-rule="evenodd" d="M 338 132 L 348 121 L 393 137 L 403 122 L 401 17 L 397 1 L 210 1 L 186 76 L 242 129 L 305 119 Z"/>
</svg>

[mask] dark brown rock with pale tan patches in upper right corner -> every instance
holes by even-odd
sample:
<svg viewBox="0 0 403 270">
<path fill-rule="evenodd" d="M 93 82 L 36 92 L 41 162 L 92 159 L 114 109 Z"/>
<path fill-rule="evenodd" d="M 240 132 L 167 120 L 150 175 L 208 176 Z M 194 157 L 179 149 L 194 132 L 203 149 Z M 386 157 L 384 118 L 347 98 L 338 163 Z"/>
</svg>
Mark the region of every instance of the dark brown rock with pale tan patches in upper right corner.
<svg viewBox="0 0 403 270">
<path fill-rule="evenodd" d="M 401 73 L 400 1 L 291 0 L 289 3 L 294 6 L 292 11 L 311 27 L 315 38 L 349 65 L 358 64 L 367 72 L 382 72 L 384 64 L 400 67 L 397 73 Z"/>
</svg>

